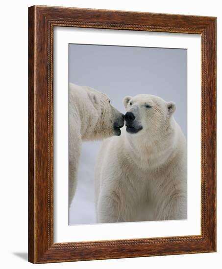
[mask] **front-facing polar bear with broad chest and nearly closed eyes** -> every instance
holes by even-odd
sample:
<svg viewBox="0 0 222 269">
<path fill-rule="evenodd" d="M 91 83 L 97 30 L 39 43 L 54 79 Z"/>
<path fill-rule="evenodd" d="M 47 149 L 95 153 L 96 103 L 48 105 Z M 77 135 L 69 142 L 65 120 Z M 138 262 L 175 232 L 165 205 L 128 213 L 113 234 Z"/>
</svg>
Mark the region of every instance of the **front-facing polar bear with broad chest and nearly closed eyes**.
<svg viewBox="0 0 222 269">
<path fill-rule="evenodd" d="M 98 223 L 186 219 L 186 138 L 174 102 L 123 99 L 125 127 L 105 139 L 95 171 Z"/>
</svg>

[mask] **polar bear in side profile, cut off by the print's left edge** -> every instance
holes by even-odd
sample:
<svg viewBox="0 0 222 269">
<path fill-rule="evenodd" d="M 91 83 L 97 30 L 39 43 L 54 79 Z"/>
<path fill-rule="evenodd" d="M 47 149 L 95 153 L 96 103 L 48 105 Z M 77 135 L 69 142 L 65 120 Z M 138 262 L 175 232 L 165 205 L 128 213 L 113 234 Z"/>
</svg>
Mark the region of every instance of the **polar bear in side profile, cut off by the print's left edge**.
<svg viewBox="0 0 222 269">
<path fill-rule="evenodd" d="M 110 105 L 109 97 L 90 87 L 69 85 L 69 205 L 77 184 L 82 141 L 120 135 L 124 115 Z"/>
</svg>

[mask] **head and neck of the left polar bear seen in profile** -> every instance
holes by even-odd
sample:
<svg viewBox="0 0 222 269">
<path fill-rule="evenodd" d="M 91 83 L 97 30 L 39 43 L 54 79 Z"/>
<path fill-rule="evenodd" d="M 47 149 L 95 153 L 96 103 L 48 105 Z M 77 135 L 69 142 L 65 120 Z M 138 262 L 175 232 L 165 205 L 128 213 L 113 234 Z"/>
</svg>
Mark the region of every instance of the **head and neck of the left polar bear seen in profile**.
<svg viewBox="0 0 222 269">
<path fill-rule="evenodd" d="M 111 105 L 110 98 L 88 86 L 70 83 L 70 126 L 79 129 L 83 141 L 121 135 L 124 115 Z"/>
</svg>

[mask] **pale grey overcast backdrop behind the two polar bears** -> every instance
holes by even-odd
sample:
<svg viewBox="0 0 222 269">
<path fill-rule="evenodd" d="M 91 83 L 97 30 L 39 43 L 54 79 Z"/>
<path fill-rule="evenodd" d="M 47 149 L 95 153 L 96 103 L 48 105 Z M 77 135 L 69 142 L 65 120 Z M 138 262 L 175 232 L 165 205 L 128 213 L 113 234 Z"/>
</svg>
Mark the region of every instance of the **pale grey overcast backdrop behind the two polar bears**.
<svg viewBox="0 0 222 269">
<path fill-rule="evenodd" d="M 123 97 L 154 94 L 176 103 L 174 117 L 187 134 L 187 50 L 107 45 L 69 45 L 70 82 L 106 93 L 124 113 Z M 94 167 L 100 141 L 83 142 L 70 224 L 96 222 Z"/>
</svg>

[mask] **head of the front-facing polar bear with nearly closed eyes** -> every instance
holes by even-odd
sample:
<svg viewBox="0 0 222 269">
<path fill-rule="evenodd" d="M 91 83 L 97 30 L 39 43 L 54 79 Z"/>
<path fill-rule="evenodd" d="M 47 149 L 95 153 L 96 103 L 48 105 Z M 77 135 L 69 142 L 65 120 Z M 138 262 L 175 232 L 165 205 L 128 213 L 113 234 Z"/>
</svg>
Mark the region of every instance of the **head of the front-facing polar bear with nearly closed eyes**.
<svg viewBox="0 0 222 269">
<path fill-rule="evenodd" d="M 138 94 L 123 99 L 126 109 L 126 132 L 133 135 L 146 134 L 150 140 L 164 134 L 176 109 L 174 102 L 150 94 Z"/>
</svg>

